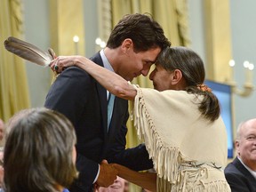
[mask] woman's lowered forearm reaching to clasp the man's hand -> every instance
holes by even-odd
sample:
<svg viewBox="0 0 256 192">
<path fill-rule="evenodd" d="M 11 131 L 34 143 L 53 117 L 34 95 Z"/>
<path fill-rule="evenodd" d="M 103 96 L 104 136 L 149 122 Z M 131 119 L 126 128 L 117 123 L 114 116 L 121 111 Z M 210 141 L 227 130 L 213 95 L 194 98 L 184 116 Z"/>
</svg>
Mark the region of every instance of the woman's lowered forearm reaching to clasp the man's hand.
<svg viewBox="0 0 256 192">
<path fill-rule="evenodd" d="M 156 191 L 156 173 L 155 172 L 134 172 L 131 169 L 120 164 L 113 164 L 118 172 L 118 176 L 128 180 L 142 188 L 150 191 Z"/>
</svg>

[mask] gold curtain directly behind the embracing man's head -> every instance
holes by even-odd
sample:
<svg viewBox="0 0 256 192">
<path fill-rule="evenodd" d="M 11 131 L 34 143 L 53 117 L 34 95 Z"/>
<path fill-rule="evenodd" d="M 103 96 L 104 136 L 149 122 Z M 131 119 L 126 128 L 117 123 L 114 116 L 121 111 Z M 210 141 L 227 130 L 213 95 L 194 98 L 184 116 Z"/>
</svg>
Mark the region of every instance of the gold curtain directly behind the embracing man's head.
<svg viewBox="0 0 256 192">
<path fill-rule="evenodd" d="M 164 35 L 172 42 L 172 46 L 189 46 L 188 31 L 188 2 L 187 0 L 112 0 L 112 25 L 115 26 L 124 14 L 148 12 L 164 28 Z M 140 84 L 140 87 L 151 87 L 152 82 L 148 76 L 140 76 L 133 80 L 132 84 Z M 140 141 L 137 140 L 136 130 L 128 122 L 127 147 L 134 147 Z"/>
</svg>

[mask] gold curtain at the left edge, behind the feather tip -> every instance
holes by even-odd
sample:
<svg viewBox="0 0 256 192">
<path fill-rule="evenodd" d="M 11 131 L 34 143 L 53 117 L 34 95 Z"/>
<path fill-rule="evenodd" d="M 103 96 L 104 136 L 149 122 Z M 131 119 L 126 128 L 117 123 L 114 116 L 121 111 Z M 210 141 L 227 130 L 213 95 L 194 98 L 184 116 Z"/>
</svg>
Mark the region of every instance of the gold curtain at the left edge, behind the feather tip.
<svg viewBox="0 0 256 192">
<path fill-rule="evenodd" d="M 25 62 L 4 49 L 4 40 L 8 36 L 23 37 L 21 8 L 20 0 L 1 0 L 0 118 L 4 121 L 20 109 L 30 107 Z"/>
</svg>

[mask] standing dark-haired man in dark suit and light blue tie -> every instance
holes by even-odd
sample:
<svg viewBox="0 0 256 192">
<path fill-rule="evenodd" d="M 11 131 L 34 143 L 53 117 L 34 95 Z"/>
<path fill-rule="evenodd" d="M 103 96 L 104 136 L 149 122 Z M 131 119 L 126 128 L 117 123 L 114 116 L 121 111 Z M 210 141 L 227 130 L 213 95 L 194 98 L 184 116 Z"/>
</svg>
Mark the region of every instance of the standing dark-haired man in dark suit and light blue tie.
<svg viewBox="0 0 256 192">
<path fill-rule="evenodd" d="M 111 32 L 107 47 L 91 60 L 132 81 L 148 75 L 162 49 L 170 46 L 159 24 L 144 14 L 126 15 Z M 108 81 L 108 79 L 106 79 Z M 44 106 L 68 116 L 76 128 L 78 180 L 71 192 L 92 191 L 92 184 L 108 187 L 116 170 L 108 163 L 123 164 L 135 171 L 152 167 L 144 145 L 125 149 L 128 103 L 115 97 L 108 127 L 108 92 L 83 69 L 65 69 L 52 84 Z M 113 99 L 113 98 L 112 98 Z M 107 159 L 107 162 L 101 162 Z M 101 163 L 100 163 L 101 162 Z"/>
</svg>

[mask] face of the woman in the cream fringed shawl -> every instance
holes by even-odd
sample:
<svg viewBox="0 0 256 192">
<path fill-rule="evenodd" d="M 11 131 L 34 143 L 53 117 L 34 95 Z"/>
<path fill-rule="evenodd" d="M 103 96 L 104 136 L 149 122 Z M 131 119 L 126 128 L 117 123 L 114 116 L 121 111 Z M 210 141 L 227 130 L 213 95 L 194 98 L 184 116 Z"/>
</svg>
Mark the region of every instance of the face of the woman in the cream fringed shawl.
<svg viewBox="0 0 256 192">
<path fill-rule="evenodd" d="M 172 71 L 166 71 L 162 66 L 156 65 L 151 72 L 149 79 L 153 82 L 154 89 L 159 92 L 172 90 Z"/>
</svg>

